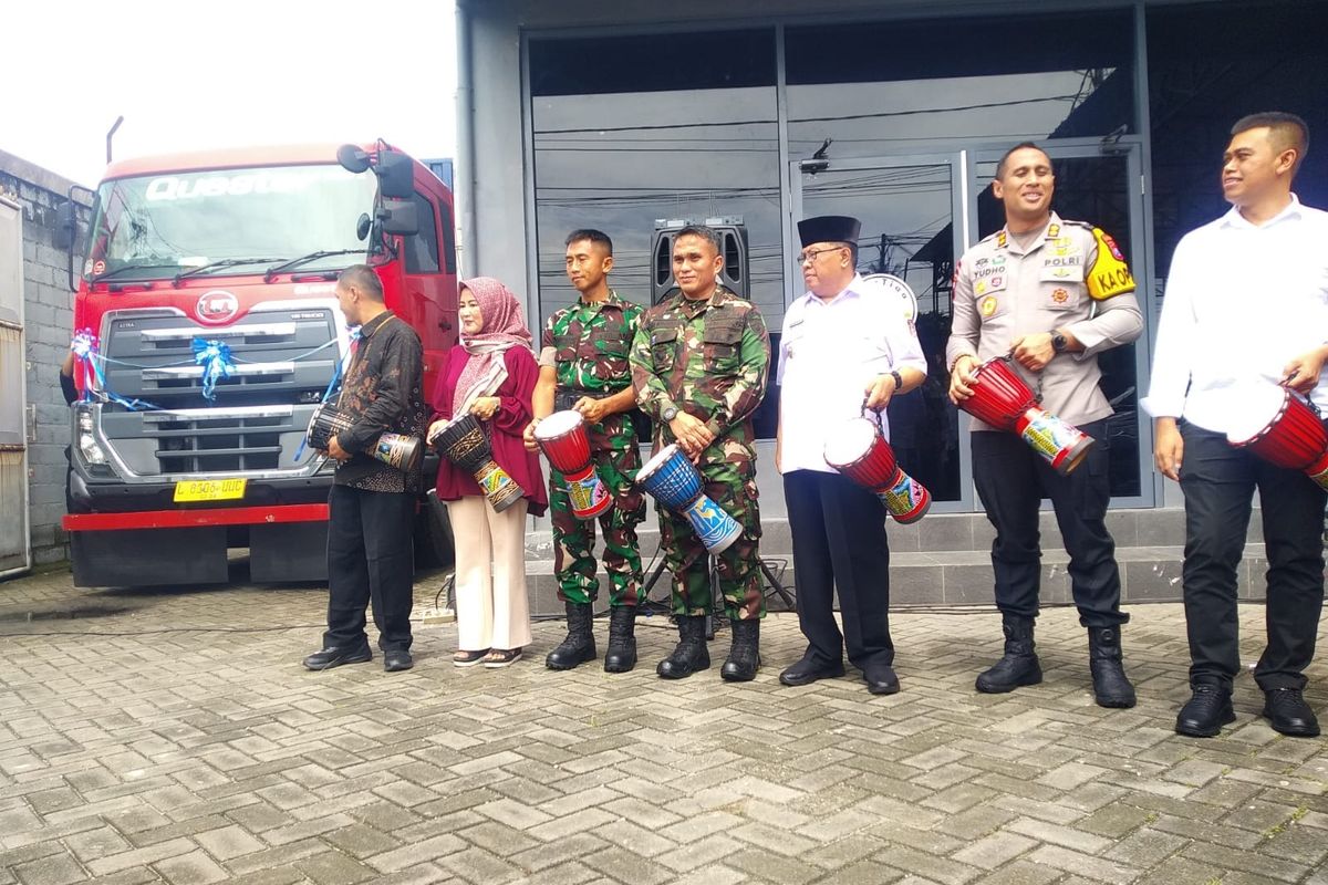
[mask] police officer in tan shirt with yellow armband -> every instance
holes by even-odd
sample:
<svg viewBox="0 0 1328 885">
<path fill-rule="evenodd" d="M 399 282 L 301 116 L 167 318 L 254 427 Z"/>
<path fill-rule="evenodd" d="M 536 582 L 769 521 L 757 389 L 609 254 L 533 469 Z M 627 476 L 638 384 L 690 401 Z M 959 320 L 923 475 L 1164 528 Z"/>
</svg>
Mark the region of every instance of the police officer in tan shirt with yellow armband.
<svg viewBox="0 0 1328 885">
<path fill-rule="evenodd" d="M 1104 707 L 1134 706 L 1122 667 L 1121 577 L 1106 529 L 1106 418 L 1097 354 L 1139 337 L 1143 318 L 1134 280 L 1116 243 L 1090 224 L 1050 210 L 1056 178 L 1036 145 L 1012 147 L 996 167 L 992 192 L 1005 227 L 968 249 L 955 268 L 954 325 L 946 358 L 950 397 L 973 393 L 973 370 L 1012 358 L 1041 405 L 1097 441 L 1068 476 L 1058 475 L 1015 434 L 973 421 L 973 483 L 996 528 L 992 571 L 1005 654 L 977 677 L 983 693 L 1042 681 L 1033 645 L 1041 572 L 1037 511 L 1050 498 L 1070 555 L 1070 586 L 1088 628 L 1093 695 Z"/>
</svg>

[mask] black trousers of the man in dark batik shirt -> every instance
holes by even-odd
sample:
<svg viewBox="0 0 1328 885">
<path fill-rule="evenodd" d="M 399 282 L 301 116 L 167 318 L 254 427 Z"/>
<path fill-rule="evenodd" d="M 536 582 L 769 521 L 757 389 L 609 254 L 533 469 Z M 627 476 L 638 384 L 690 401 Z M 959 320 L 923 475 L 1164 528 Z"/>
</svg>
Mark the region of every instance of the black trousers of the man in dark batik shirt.
<svg viewBox="0 0 1328 885">
<path fill-rule="evenodd" d="M 414 499 L 333 486 L 328 494 L 328 629 L 324 646 L 368 645 L 364 606 L 373 609 L 378 647 L 410 647 Z"/>
</svg>

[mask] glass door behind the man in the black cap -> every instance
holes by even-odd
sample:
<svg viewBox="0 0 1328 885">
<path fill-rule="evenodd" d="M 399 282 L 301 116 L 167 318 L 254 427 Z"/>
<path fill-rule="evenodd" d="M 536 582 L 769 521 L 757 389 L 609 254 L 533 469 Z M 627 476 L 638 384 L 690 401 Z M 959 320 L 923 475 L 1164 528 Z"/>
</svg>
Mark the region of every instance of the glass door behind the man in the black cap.
<svg viewBox="0 0 1328 885">
<path fill-rule="evenodd" d="M 975 507 L 969 447 L 946 395 L 950 287 L 955 256 L 969 238 L 964 163 L 961 151 L 795 162 L 793 212 L 785 232 L 785 253 L 797 255 L 798 219 L 851 215 L 862 220 L 858 271 L 896 276 L 918 297 L 914 321 L 927 354 L 927 383 L 891 401 L 890 434 L 900 466 L 931 491 L 939 512 Z M 802 277 L 788 273 L 785 279 L 791 303 L 803 295 Z"/>
</svg>

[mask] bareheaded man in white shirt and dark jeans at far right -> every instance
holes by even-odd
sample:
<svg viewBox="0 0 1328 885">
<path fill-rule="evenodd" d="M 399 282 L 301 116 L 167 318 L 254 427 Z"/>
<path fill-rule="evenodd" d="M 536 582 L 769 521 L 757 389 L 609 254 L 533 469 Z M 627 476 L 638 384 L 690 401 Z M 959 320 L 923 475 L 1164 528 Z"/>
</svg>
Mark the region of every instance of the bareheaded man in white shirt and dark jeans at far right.
<svg viewBox="0 0 1328 885">
<path fill-rule="evenodd" d="M 1227 442 L 1258 421 L 1252 389 L 1282 383 L 1328 407 L 1328 214 L 1291 192 L 1308 142 L 1292 114 L 1252 114 L 1231 129 L 1222 191 L 1232 208 L 1175 248 L 1142 402 L 1155 419 L 1157 468 L 1185 494 L 1193 697 L 1175 730 L 1195 738 L 1235 720 L 1236 565 L 1255 488 L 1268 559 L 1268 645 L 1254 671 L 1263 715 L 1282 734 L 1319 734 L 1301 691 L 1324 598 L 1325 492 Z"/>
</svg>

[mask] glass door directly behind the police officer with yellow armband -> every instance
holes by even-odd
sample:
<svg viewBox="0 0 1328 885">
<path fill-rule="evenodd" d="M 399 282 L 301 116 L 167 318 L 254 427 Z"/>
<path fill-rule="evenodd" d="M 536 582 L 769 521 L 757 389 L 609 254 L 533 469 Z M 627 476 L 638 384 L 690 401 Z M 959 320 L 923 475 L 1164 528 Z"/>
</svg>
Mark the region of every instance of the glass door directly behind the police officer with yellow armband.
<svg viewBox="0 0 1328 885">
<path fill-rule="evenodd" d="M 1151 299 L 1147 293 L 1151 273 L 1143 245 L 1142 147 L 1137 141 L 1125 138 L 1045 142 L 1041 147 L 1052 158 L 1056 172 L 1052 208 L 1064 219 L 1089 222 L 1110 234 L 1138 284 L 1135 297 L 1143 310 L 1145 332 L 1133 344 L 1101 354 L 1098 366 L 1102 369 L 1102 393 L 1116 409 L 1116 415 L 1108 422 L 1112 504 L 1151 507 L 1153 425 L 1138 407 L 1141 391 L 1147 390 L 1151 324 Z M 1001 204 L 991 190 L 996 162 L 1004 151 L 1001 147 L 971 153 L 968 215 L 976 223 L 969 244 L 999 231 L 1005 223 Z"/>
</svg>

